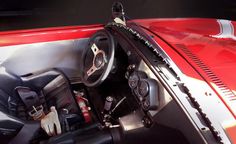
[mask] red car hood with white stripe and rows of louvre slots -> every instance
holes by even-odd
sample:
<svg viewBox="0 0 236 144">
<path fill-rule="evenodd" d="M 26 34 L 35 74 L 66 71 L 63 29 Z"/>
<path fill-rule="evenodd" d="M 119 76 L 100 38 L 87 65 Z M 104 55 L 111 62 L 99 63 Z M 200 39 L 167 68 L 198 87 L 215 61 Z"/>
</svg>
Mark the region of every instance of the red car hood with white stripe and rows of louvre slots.
<svg viewBox="0 0 236 144">
<path fill-rule="evenodd" d="M 188 61 L 236 117 L 236 22 L 215 19 L 136 22 L 155 33 Z"/>
</svg>

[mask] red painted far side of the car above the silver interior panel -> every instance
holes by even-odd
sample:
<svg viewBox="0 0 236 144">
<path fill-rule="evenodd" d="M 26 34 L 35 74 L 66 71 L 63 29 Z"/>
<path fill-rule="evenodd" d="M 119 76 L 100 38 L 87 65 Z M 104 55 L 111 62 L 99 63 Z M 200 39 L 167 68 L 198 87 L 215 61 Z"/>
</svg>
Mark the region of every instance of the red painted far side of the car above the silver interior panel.
<svg viewBox="0 0 236 144">
<path fill-rule="evenodd" d="M 0 32 L 0 46 L 88 38 L 102 25 L 67 26 Z"/>
</svg>

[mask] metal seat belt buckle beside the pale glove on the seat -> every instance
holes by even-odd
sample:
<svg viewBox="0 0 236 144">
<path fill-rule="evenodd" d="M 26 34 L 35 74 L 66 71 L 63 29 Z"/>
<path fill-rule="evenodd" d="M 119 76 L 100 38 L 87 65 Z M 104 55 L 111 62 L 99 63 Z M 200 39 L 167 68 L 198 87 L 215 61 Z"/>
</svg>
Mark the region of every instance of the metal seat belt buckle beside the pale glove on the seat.
<svg viewBox="0 0 236 144">
<path fill-rule="evenodd" d="M 43 111 L 43 106 L 32 106 L 32 110 L 28 112 L 28 114 L 34 119 L 34 120 L 41 120 L 45 113 Z"/>
</svg>

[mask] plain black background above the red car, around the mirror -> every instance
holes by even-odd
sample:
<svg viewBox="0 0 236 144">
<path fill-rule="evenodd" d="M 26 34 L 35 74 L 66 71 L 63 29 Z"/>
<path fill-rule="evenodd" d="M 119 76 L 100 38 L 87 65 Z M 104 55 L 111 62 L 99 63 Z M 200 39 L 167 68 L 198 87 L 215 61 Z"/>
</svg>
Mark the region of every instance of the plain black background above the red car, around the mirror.
<svg viewBox="0 0 236 144">
<path fill-rule="evenodd" d="M 0 30 L 107 23 L 115 0 L 2 0 Z M 234 0 L 121 1 L 126 15 L 140 18 L 236 19 Z"/>
</svg>

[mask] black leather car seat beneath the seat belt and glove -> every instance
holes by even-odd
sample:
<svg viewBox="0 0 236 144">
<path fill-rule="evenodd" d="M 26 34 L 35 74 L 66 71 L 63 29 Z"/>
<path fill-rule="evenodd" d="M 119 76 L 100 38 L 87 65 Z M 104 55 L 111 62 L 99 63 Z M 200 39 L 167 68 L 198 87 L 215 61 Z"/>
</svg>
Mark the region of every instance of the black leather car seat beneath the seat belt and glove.
<svg viewBox="0 0 236 144">
<path fill-rule="evenodd" d="M 25 106 L 15 91 L 16 87 L 28 87 L 35 91 L 43 104 L 45 112 L 51 106 L 55 106 L 59 112 L 67 109 L 70 113 L 79 113 L 80 110 L 73 97 L 69 81 L 65 75 L 58 70 L 16 76 L 10 74 L 4 68 L 0 68 L 0 139 L 1 143 L 14 140 L 20 131 L 29 123 L 32 124 L 30 116 L 25 111 Z M 38 123 L 39 122 L 35 122 Z M 39 126 L 38 126 L 39 127 Z M 23 130 L 22 130 L 23 129 Z M 32 135 L 31 130 L 26 133 Z M 21 134 L 22 135 L 22 134 Z M 27 140 L 27 135 L 22 137 Z M 29 139 L 29 138 L 28 138 Z M 23 141 L 26 142 L 26 141 Z M 22 142 L 21 142 L 22 143 Z"/>
</svg>

